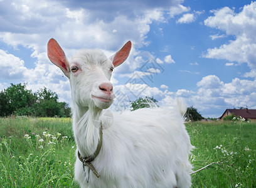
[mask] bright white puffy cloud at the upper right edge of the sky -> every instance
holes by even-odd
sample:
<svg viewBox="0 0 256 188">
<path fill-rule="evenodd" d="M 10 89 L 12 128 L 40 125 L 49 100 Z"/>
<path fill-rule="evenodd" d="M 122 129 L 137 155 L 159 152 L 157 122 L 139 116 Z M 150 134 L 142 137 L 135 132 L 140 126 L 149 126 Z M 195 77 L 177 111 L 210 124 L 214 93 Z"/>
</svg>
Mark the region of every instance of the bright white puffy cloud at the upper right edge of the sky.
<svg viewBox="0 0 256 188">
<path fill-rule="evenodd" d="M 214 16 L 205 20 L 205 25 L 224 31 L 235 39 L 219 48 L 211 48 L 205 54 L 206 58 L 216 58 L 247 65 L 256 69 L 256 2 L 243 6 L 240 13 L 228 7 L 211 11 Z M 239 53 L 237 53 L 239 51 Z"/>
</svg>

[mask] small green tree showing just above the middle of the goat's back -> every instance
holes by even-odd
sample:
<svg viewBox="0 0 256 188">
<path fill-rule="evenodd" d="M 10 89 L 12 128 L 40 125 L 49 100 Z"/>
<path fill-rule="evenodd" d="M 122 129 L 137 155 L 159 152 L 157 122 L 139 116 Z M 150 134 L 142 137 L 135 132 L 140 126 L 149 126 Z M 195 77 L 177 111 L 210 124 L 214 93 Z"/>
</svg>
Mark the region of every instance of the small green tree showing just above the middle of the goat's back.
<svg viewBox="0 0 256 188">
<path fill-rule="evenodd" d="M 137 110 L 139 108 L 149 108 L 152 105 L 157 105 L 157 100 L 155 100 L 153 97 L 140 97 L 134 102 L 131 102 L 131 111 Z"/>
</svg>

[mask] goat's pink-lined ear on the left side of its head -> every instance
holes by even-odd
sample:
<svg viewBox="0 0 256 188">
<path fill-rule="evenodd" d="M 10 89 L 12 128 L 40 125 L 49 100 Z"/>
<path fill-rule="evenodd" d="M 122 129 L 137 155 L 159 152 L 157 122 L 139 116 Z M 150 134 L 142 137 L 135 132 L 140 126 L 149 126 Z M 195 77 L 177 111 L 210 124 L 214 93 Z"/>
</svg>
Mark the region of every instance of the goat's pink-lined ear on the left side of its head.
<svg viewBox="0 0 256 188">
<path fill-rule="evenodd" d="M 53 38 L 51 38 L 48 41 L 47 53 L 48 53 L 48 58 L 50 59 L 50 61 L 54 65 L 58 66 L 61 69 L 61 71 L 63 71 L 64 75 L 66 75 L 68 77 L 70 74 L 68 59 L 67 59 L 64 51 L 61 49 L 60 45 Z"/>
</svg>

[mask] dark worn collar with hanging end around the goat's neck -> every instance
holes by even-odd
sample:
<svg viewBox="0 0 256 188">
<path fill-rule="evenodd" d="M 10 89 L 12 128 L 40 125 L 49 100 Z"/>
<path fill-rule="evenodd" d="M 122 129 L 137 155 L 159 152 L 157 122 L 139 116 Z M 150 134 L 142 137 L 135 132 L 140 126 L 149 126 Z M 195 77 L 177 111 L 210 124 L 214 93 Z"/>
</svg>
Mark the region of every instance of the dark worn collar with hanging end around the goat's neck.
<svg viewBox="0 0 256 188">
<path fill-rule="evenodd" d="M 80 152 L 77 150 L 78 159 L 81 160 L 81 162 L 83 163 L 83 166 L 89 167 L 90 170 L 92 170 L 93 174 L 95 174 L 97 177 L 100 177 L 100 175 L 98 174 L 96 169 L 93 167 L 91 162 L 99 155 L 100 149 L 102 148 L 102 134 L 103 134 L 102 133 L 102 122 L 100 122 L 100 139 L 99 139 L 97 149 L 94 152 L 94 154 L 90 155 L 89 157 L 82 157 Z"/>
</svg>

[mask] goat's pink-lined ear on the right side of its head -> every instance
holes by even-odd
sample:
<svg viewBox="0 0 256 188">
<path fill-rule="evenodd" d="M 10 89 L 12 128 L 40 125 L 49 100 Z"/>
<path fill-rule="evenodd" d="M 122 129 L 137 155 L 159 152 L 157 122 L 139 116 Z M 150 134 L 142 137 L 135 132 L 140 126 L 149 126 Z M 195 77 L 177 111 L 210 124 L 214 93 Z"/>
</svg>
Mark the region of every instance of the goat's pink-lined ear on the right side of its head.
<svg viewBox="0 0 256 188">
<path fill-rule="evenodd" d="M 119 51 L 117 51 L 117 53 L 115 53 L 115 55 L 110 57 L 110 60 L 112 61 L 115 67 L 124 63 L 124 61 L 129 56 L 131 48 L 132 48 L 132 43 L 131 41 L 128 41 L 127 43 L 124 44 L 124 46 Z"/>
</svg>

